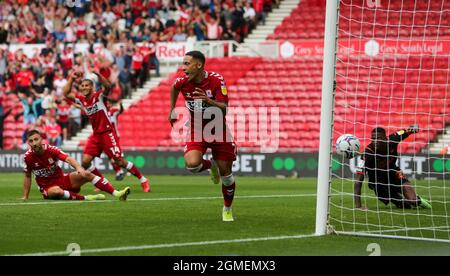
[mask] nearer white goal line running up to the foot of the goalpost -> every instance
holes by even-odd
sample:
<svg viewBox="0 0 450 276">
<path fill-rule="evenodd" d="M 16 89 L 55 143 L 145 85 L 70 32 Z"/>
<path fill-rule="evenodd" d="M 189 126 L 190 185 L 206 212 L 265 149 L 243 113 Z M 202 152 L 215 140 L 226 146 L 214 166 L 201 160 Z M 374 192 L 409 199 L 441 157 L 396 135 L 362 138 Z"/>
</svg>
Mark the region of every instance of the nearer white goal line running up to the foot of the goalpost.
<svg viewBox="0 0 450 276">
<path fill-rule="evenodd" d="M 157 248 L 172 248 L 172 247 L 184 247 L 184 246 L 198 246 L 198 245 L 214 245 L 214 244 L 227 244 L 227 243 L 244 243 L 244 242 L 258 242 L 258 241 L 274 241 L 274 240 L 287 240 L 287 239 L 302 239 L 315 237 L 314 234 L 309 235 L 292 235 L 292 236 L 277 236 L 277 237 L 260 237 L 260 238 L 247 238 L 236 240 L 216 240 L 216 241 L 200 241 L 200 242 L 186 242 L 186 243 L 166 243 L 166 244 L 153 244 L 153 245 L 141 245 L 141 246 L 124 246 L 124 247 L 110 247 L 110 248 L 96 248 L 96 249 L 81 249 L 81 254 L 89 253 L 103 253 L 103 252 L 118 252 L 118 251 L 135 251 Z M 13 256 L 55 256 L 55 255 L 68 255 L 68 251 L 54 251 L 54 252 L 37 252 L 29 254 L 17 254 Z"/>
</svg>

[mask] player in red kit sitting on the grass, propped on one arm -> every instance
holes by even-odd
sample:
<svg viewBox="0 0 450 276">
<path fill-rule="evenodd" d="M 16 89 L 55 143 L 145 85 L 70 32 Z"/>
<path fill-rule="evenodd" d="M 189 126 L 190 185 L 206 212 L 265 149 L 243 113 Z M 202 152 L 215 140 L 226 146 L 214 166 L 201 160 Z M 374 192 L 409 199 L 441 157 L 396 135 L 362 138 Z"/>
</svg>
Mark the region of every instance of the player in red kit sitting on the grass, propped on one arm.
<svg viewBox="0 0 450 276">
<path fill-rule="evenodd" d="M 24 183 L 23 200 L 28 199 L 31 187 L 31 173 L 36 176 L 36 183 L 44 199 L 66 200 L 103 200 L 103 194 L 80 195 L 80 187 L 91 182 L 98 189 L 111 195 L 126 200 L 130 188 L 126 187 L 117 191 L 106 178 L 96 176 L 85 171 L 78 162 L 57 147 L 42 143 L 42 136 L 37 130 L 27 133 L 27 143 L 30 149 L 24 155 Z M 58 161 L 68 163 L 76 172 L 64 174 Z"/>
</svg>

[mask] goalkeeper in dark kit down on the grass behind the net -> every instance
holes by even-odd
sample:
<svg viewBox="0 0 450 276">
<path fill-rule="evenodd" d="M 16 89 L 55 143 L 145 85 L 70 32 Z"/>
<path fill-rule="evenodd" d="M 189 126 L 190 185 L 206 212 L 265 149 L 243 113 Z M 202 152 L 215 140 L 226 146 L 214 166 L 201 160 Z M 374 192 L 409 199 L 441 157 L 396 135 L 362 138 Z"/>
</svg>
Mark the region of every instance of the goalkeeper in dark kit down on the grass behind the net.
<svg viewBox="0 0 450 276">
<path fill-rule="evenodd" d="M 361 186 L 365 174 L 369 176 L 369 188 L 385 205 L 392 202 L 397 208 L 409 209 L 418 206 L 431 208 L 430 203 L 416 195 L 414 187 L 396 165 L 398 144 L 418 131 L 419 127 L 414 125 L 387 137 L 384 128 L 377 127 L 372 130 L 372 141 L 366 147 L 356 171 L 358 174 L 354 185 L 356 208 L 362 208 Z"/>
</svg>

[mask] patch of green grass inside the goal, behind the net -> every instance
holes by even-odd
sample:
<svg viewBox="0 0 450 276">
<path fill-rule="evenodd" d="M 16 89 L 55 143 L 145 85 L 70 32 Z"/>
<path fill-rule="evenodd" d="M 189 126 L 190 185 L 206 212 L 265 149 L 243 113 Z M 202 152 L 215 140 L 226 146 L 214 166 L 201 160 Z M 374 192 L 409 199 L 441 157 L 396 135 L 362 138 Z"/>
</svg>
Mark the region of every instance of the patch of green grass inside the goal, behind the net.
<svg viewBox="0 0 450 276">
<path fill-rule="evenodd" d="M 349 181 L 333 181 L 331 191 L 337 195 L 331 197 L 330 217 L 335 230 L 449 240 L 450 190 L 438 180 L 414 183 L 417 194 L 432 202 L 432 209 L 402 210 L 393 204 L 384 205 L 366 184 L 362 202 L 369 210 L 355 210 L 352 208 L 353 184 Z"/>
</svg>

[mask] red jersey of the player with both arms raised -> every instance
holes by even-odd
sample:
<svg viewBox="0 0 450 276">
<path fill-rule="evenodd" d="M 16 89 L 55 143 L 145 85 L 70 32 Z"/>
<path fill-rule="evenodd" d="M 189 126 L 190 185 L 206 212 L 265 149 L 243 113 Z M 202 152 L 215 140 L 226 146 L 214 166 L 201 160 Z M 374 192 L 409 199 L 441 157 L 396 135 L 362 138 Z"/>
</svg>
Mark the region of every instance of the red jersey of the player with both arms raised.
<svg viewBox="0 0 450 276">
<path fill-rule="evenodd" d="M 103 91 L 99 90 L 87 99 L 81 94 L 77 94 L 75 102 L 83 106 L 89 120 L 92 124 L 94 134 L 103 133 L 113 129 L 111 121 L 109 120 L 108 108 L 106 107 L 106 97 Z"/>
</svg>

